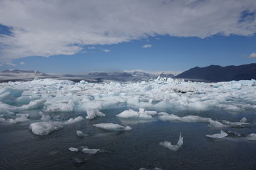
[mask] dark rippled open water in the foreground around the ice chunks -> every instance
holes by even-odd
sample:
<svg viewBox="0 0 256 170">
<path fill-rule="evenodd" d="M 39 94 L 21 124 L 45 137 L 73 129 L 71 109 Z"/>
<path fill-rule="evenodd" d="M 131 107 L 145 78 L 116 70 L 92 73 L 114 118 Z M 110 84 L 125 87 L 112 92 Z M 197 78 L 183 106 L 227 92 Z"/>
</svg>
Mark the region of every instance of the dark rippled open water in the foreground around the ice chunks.
<svg viewBox="0 0 256 170">
<path fill-rule="evenodd" d="M 206 123 L 178 123 L 153 120 L 124 120 L 115 117 L 127 108 L 103 110 L 103 118 L 82 120 L 65 125 L 61 130 L 45 136 L 36 136 L 28 130 L 35 120 L 20 124 L 0 124 L 0 169 L 140 169 L 142 167 L 160 169 L 256 169 L 256 143 L 243 137 L 225 137 L 212 140 L 206 135 L 219 133 L 220 129 L 209 128 Z M 209 115 L 217 111 L 196 113 Z M 193 113 L 180 113 L 193 115 Z M 253 113 L 219 113 L 225 120 L 238 120 L 248 115 L 255 121 Z M 33 113 L 31 113 L 33 115 Z M 77 117 L 85 113 L 60 113 L 57 118 Z M 118 123 L 129 125 L 132 130 L 109 132 L 92 126 L 96 123 Z M 90 134 L 76 137 L 76 131 Z M 256 132 L 251 128 L 233 130 L 249 135 Z M 169 141 L 176 144 L 179 132 L 183 136 L 183 146 L 171 151 L 159 145 Z M 101 149 L 100 153 L 88 155 L 70 152 L 69 147 L 89 147 Z M 72 159 L 85 160 L 74 164 Z"/>
</svg>

